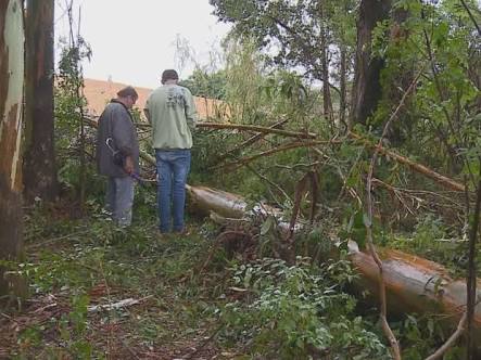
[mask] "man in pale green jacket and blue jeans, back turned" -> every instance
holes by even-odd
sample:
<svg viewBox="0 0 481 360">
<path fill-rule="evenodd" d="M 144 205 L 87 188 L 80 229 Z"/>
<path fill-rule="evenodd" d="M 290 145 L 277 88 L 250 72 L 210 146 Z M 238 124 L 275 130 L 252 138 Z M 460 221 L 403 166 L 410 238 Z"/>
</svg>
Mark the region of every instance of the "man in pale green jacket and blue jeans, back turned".
<svg viewBox="0 0 481 360">
<path fill-rule="evenodd" d="M 162 86 L 149 95 L 144 108 L 155 149 L 161 233 L 185 231 L 186 182 L 197 110 L 189 89 L 177 85 L 178 80 L 176 70 L 165 70 Z"/>
</svg>

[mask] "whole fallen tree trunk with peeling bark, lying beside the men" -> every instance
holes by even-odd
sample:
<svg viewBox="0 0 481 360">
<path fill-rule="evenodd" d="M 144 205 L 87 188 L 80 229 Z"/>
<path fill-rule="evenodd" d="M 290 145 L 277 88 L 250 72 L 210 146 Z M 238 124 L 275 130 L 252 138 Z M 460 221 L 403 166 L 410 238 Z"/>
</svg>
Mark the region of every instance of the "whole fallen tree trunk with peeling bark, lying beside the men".
<svg viewBox="0 0 481 360">
<path fill-rule="evenodd" d="M 205 211 L 227 218 L 242 218 L 248 204 L 239 195 L 205 187 L 187 187 L 191 203 Z M 377 295 L 379 268 L 369 254 L 350 242 L 350 259 L 360 275 L 356 286 Z M 466 310 L 466 280 L 452 279 L 440 263 L 400 250 L 378 248 L 382 259 L 390 311 L 435 313 L 440 321 L 455 327 Z M 477 296 L 481 299 L 481 280 Z M 377 297 L 376 297 L 377 298 Z M 481 304 L 474 309 L 474 327 L 481 347 Z"/>
</svg>

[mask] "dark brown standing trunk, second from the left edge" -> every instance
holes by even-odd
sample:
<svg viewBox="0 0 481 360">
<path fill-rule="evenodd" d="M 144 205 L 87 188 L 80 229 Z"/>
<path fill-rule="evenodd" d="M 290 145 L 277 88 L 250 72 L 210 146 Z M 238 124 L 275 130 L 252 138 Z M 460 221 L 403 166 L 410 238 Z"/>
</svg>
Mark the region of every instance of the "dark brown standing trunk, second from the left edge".
<svg viewBox="0 0 481 360">
<path fill-rule="evenodd" d="M 28 0 L 26 16 L 24 195 L 54 201 L 53 0 Z"/>
</svg>

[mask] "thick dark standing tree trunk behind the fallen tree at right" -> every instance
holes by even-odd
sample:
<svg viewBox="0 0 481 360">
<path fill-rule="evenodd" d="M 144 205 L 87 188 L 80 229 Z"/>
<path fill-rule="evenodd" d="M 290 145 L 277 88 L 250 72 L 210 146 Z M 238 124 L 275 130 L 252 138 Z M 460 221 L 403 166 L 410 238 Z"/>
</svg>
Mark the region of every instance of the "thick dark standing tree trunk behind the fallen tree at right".
<svg viewBox="0 0 481 360">
<path fill-rule="evenodd" d="M 350 126 L 366 124 L 376 111 L 382 91 L 380 73 L 383 60 L 372 56 L 372 30 L 389 16 L 391 1 L 362 0 L 357 21 L 357 48 Z"/>
</svg>

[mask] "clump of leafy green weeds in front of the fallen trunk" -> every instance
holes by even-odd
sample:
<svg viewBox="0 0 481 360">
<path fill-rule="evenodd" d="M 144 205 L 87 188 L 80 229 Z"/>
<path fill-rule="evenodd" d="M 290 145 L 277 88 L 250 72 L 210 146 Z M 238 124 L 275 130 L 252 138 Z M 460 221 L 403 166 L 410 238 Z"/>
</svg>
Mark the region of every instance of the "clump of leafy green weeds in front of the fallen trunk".
<svg viewBox="0 0 481 360">
<path fill-rule="evenodd" d="M 241 342 L 253 357 L 387 359 L 380 338 L 354 314 L 356 300 L 342 288 L 352 278 L 344 261 L 313 268 L 298 258 L 263 259 L 233 269 L 245 298 L 221 310 L 225 340 Z M 345 275 L 342 275 L 345 274 Z"/>
</svg>

